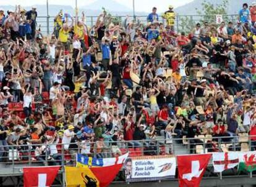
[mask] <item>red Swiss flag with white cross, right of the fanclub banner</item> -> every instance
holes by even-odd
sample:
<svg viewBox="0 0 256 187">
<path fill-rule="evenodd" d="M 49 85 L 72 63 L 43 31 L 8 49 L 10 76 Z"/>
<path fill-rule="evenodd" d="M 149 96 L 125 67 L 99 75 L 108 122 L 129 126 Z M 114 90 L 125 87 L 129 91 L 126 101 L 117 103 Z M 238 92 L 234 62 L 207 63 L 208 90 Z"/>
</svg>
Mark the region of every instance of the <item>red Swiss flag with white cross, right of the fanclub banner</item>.
<svg viewBox="0 0 256 187">
<path fill-rule="evenodd" d="M 177 156 L 179 187 L 198 187 L 211 154 Z"/>
</svg>

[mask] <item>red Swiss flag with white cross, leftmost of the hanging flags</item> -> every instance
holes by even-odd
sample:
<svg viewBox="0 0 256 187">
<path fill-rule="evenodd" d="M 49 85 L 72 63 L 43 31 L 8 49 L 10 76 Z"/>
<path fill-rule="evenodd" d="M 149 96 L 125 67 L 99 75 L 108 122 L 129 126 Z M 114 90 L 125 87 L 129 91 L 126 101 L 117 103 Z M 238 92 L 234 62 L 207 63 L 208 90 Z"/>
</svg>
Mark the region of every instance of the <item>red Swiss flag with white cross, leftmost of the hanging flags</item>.
<svg viewBox="0 0 256 187">
<path fill-rule="evenodd" d="M 59 172 L 59 166 L 53 167 L 24 167 L 24 187 L 46 187 L 53 184 Z"/>
</svg>

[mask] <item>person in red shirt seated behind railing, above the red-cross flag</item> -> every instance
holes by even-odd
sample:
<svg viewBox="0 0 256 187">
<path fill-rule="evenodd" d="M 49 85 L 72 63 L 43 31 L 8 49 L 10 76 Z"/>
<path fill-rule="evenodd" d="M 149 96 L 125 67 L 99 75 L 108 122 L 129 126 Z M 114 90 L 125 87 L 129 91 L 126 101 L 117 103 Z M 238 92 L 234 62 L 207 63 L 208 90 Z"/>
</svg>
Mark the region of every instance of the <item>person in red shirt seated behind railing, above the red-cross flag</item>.
<svg viewBox="0 0 256 187">
<path fill-rule="evenodd" d="M 228 127 L 223 124 L 222 119 L 218 119 L 218 124 L 213 126 L 213 137 L 229 137 L 227 129 Z M 218 139 L 213 138 L 213 141 L 218 141 Z M 229 141 L 229 138 L 221 138 L 221 141 Z"/>
</svg>

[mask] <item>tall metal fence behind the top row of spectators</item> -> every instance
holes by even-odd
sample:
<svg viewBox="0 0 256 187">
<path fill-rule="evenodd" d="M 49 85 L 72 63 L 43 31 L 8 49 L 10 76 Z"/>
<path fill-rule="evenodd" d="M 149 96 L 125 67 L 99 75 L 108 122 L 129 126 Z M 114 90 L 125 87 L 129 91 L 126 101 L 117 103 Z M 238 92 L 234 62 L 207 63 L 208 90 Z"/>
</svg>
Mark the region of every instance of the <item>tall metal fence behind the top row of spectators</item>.
<svg viewBox="0 0 256 187">
<path fill-rule="evenodd" d="M 223 15 L 223 20 L 226 22 L 236 22 L 238 15 Z M 86 24 L 90 27 L 95 25 L 97 16 L 87 16 Z M 119 20 L 120 23 L 124 22 L 126 16 L 112 16 L 112 19 Z M 130 16 L 132 18 L 132 16 Z M 137 15 L 136 20 L 140 20 L 144 25 L 147 24 L 147 15 Z M 174 28 L 176 31 L 190 31 L 195 27 L 196 23 L 202 23 L 207 21 L 208 23 L 216 23 L 216 15 L 177 15 L 175 18 Z M 164 24 L 162 17 L 159 17 L 159 22 Z M 51 34 L 54 29 L 54 17 L 51 16 L 39 16 L 37 17 L 37 25 L 41 25 L 41 32 L 43 34 Z"/>
</svg>

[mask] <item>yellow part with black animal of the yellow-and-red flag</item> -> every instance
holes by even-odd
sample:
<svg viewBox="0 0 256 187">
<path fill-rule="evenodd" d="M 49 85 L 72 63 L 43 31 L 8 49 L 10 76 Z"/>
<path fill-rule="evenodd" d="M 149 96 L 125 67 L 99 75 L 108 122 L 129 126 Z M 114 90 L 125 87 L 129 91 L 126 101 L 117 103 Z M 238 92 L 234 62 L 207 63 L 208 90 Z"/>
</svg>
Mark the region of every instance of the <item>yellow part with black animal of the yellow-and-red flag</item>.
<svg viewBox="0 0 256 187">
<path fill-rule="evenodd" d="M 67 187 L 99 187 L 100 181 L 88 167 L 65 166 Z"/>
</svg>

